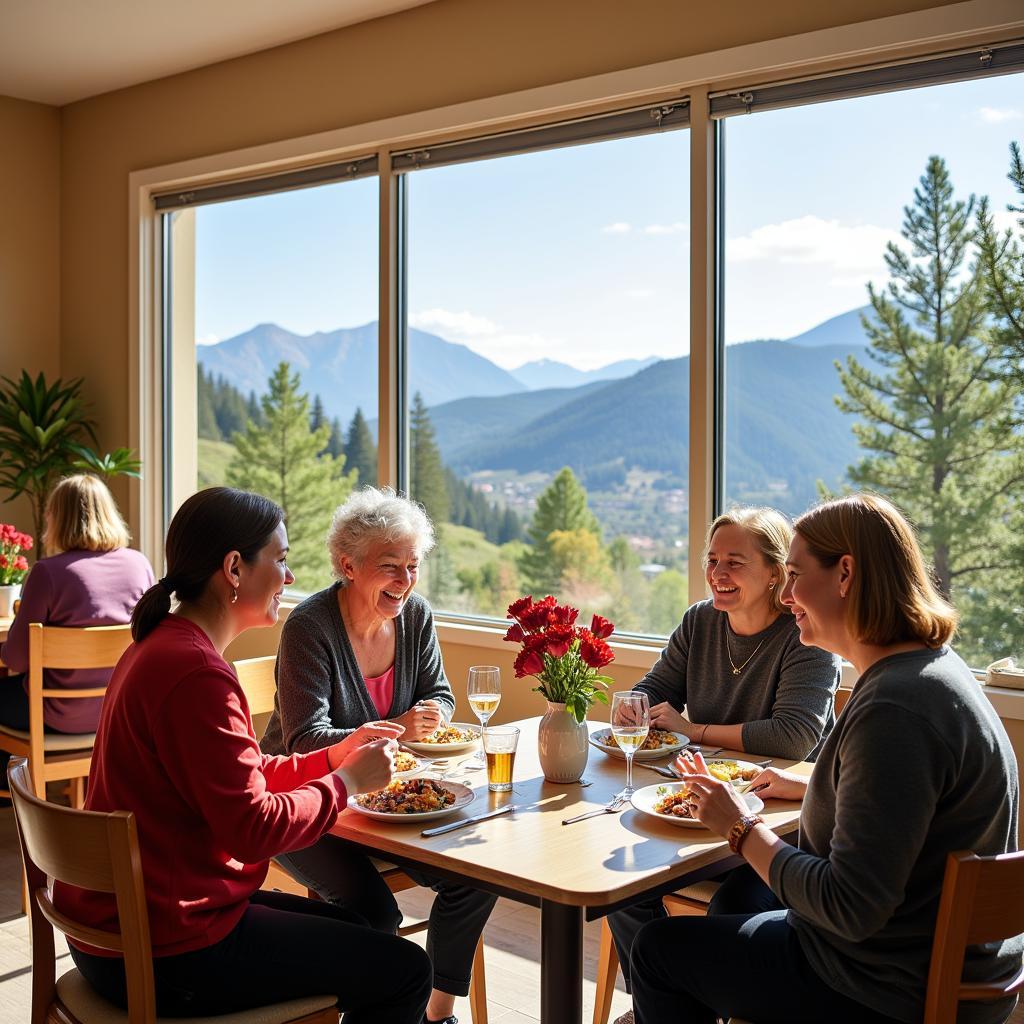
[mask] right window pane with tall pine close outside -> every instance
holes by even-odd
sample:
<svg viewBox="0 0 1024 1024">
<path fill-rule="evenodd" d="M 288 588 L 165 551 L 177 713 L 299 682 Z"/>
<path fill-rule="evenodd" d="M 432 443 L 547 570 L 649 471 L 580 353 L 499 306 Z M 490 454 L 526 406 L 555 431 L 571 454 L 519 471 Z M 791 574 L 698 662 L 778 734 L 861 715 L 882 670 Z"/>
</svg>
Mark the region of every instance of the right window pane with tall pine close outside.
<svg viewBox="0 0 1024 1024">
<path fill-rule="evenodd" d="M 1021 394 L 978 244 L 982 197 L 1017 227 L 1024 76 L 755 99 L 719 130 L 726 501 L 796 514 L 819 492 L 890 496 L 963 614 L 962 652 L 1020 653 Z"/>
</svg>

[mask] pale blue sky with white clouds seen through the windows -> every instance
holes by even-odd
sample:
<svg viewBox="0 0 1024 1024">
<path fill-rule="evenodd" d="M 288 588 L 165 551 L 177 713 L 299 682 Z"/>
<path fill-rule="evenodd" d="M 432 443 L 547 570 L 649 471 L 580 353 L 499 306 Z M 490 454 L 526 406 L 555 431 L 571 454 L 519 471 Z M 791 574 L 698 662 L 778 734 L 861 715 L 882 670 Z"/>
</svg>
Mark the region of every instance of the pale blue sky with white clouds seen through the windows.
<svg viewBox="0 0 1024 1024">
<path fill-rule="evenodd" d="M 1020 75 L 729 119 L 727 340 L 864 304 L 932 154 L 1009 225 L 1012 139 Z M 684 354 L 688 162 L 675 131 L 411 174 L 411 322 L 507 368 Z M 201 342 L 376 316 L 376 179 L 199 211 Z"/>
</svg>

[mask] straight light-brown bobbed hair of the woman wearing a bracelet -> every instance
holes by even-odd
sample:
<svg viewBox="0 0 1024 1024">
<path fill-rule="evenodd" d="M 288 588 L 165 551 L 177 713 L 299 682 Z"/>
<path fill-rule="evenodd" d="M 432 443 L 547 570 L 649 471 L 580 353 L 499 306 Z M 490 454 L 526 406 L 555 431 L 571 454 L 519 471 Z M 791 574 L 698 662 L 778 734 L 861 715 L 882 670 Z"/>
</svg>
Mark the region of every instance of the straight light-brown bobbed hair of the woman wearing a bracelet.
<svg viewBox="0 0 1024 1024">
<path fill-rule="evenodd" d="M 885 498 L 834 499 L 805 512 L 795 528 L 825 567 L 853 557 L 846 625 L 860 643 L 941 647 L 956 632 L 956 611 L 933 583 L 913 527 Z"/>
</svg>

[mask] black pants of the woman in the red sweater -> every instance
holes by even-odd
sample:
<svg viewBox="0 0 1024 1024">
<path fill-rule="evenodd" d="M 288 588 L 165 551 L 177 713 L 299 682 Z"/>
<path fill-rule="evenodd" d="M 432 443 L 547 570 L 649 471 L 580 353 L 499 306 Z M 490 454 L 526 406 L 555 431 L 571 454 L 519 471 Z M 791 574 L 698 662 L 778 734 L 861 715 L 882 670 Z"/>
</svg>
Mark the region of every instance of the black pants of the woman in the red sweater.
<svg viewBox="0 0 1024 1024">
<path fill-rule="evenodd" d="M 124 961 L 71 948 L 89 984 L 127 1007 Z M 153 962 L 157 1014 L 206 1017 L 306 995 L 337 995 L 345 1024 L 420 1024 L 430 962 L 414 942 L 374 931 L 330 903 L 257 892 L 220 942 Z"/>
</svg>

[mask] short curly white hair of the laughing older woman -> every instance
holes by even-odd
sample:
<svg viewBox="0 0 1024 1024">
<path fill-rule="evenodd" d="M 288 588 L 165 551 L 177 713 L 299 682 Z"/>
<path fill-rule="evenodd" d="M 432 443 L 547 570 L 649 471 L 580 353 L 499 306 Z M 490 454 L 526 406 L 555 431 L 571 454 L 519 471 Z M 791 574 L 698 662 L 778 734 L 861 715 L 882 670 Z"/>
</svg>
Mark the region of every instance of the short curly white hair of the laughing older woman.
<svg viewBox="0 0 1024 1024">
<path fill-rule="evenodd" d="M 348 581 L 341 560 L 349 557 L 361 564 L 374 544 L 412 541 L 420 557 L 434 546 L 434 527 L 423 506 L 396 495 L 390 487 L 362 487 L 339 505 L 327 535 L 334 574 L 345 586 Z"/>
</svg>

